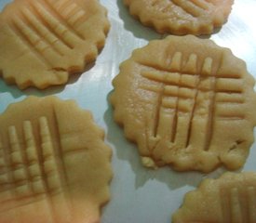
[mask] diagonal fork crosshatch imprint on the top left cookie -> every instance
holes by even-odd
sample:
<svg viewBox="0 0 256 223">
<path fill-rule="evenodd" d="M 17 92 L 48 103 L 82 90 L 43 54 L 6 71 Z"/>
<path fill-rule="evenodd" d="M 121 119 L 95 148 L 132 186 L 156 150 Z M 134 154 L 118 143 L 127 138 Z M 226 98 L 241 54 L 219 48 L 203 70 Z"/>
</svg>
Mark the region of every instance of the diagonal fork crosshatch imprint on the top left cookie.
<svg viewBox="0 0 256 223">
<path fill-rule="evenodd" d="M 71 1 L 34 1 L 20 7 L 11 29 L 50 68 L 54 66 L 52 57 L 63 57 L 77 43 L 83 45 L 86 39 L 78 28 L 86 21 L 85 15 L 85 10 Z"/>
</svg>

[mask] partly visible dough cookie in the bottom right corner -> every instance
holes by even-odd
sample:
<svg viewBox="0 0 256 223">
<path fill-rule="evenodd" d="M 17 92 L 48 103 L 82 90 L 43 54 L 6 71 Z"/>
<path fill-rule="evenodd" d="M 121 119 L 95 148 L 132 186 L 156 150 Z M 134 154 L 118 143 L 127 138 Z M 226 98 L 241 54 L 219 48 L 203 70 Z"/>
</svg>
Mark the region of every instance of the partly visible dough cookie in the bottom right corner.
<svg viewBox="0 0 256 223">
<path fill-rule="evenodd" d="M 225 173 L 188 192 L 173 223 L 255 223 L 256 173 Z"/>
</svg>

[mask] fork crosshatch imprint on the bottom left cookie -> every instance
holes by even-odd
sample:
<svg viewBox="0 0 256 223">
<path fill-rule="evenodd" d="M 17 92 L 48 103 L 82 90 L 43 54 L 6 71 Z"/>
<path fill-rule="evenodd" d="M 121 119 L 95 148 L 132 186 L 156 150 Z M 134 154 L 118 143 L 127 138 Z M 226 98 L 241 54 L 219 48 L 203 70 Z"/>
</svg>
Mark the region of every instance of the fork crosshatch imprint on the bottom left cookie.
<svg viewBox="0 0 256 223">
<path fill-rule="evenodd" d="M 61 165 L 58 165 L 56 160 L 57 155 L 54 151 L 46 117 L 39 119 L 39 128 L 41 150 L 38 150 L 36 146 L 32 123 L 30 121 L 23 123 L 25 151 L 22 150 L 23 147 L 20 145 L 17 128 L 15 126 L 9 126 L 8 128 L 10 151 L 6 156 L 9 156 L 9 159 L 7 159 L 9 164 L 5 164 L 7 171 L 2 173 L 5 181 L 0 181 L 1 203 L 3 204 L 0 207 L 0 213 L 28 203 L 41 201 L 45 203 L 45 208 L 52 216 L 56 215 L 55 217 L 60 219 L 61 216 L 55 210 L 57 207 L 54 204 L 55 196 L 58 195 L 58 199 L 62 200 L 58 208 L 61 208 L 67 216 L 70 216 L 68 214 L 70 207 L 64 195 L 66 191 L 65 193 L 63 191 L 66 179 L 63 183 L 60 176 L 60 173 L 65 170 L 59 169 Z M 4 150 L 4 148 L 0 149 Z M 4 157 L 1 158 L 5 159 Z"/>
</svg>

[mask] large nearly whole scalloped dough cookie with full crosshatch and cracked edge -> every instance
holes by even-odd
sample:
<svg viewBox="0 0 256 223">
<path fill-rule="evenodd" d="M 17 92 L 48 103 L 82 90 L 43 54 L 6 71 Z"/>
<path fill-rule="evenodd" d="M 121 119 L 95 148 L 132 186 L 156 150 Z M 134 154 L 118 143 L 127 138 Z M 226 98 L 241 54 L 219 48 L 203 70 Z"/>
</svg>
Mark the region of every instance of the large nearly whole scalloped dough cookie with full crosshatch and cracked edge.
<svg viewBox="0 0 256 223">
<path fill-rule="evenodd" d="M 254 79 L 227 48 L 169 36 L 137 49 L 115 77 L 115 121 L 142 163 L 209 172 L 241 167 L 256 125 Z"/>
</svg>

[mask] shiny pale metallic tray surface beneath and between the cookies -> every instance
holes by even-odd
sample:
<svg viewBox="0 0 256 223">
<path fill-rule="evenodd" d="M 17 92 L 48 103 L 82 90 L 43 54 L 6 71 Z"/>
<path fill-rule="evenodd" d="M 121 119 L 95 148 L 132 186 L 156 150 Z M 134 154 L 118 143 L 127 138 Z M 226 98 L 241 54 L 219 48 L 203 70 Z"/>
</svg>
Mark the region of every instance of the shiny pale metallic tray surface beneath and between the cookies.
<svg viewBox="0 0 256 223">
<path fill-rule="evenodd" d="M 0 0 L 0 8 L 7 2 L 10 1 Z M 256 27 L 253 24 L 256 1 L 235 2 L 228 22 L 210 39 L 220 46 L 231 48 L 236 57 L 247 62 L 249 72 L 256 76 Z M 106 141 L 114 151 L 112 200 L 103 208 L 101 222 L 169 223 L 171 214 L 181 205 L 186 191 L 194 189 L 203 177 L 218 177 L 225 170 L 220 168 L 209 175 L 202 175 L 195 172 L 177 173 L 168 167 L 154 171 L 141 166 L 136 146 L 124 138 L 123 130 L 113 121 L 108 96 L 113 89 L 111 82 L 118 73 L 119 63 L 128 59 L 134 48 L 163 36 L 130 17 L 122 0 L 101 0 L 101 3 L 109 10 L 112 28 L 105 47 L 91 69 L 73 76 L 67 85 L 44 91 L 34 88 L 20 91 L 15 85 L 6 85 L 0 78 L 0 112 L 4 112 L 8 104 L 29 95 L 74 98 L 82 108 L 93 112 L 95 121 L 105 128 Z M 256 170 L 255 147 L 253 144 L 243 170 Z"/>
</svg>

